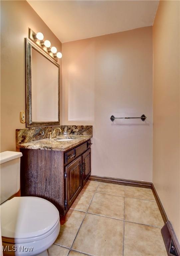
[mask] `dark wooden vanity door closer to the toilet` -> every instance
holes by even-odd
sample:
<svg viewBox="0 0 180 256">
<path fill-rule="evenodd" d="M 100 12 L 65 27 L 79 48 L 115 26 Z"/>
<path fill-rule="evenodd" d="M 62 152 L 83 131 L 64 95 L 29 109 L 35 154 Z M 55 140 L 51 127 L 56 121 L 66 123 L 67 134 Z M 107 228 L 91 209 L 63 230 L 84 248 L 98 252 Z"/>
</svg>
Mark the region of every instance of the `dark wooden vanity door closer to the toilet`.
<svg viewBox="0 0 180 256">
<path fill-rule="evenodd" d="M 67 207 L 69 208 L 82 188 L 81 156 L 66 166 L 67 175 Z"/>
</svg>

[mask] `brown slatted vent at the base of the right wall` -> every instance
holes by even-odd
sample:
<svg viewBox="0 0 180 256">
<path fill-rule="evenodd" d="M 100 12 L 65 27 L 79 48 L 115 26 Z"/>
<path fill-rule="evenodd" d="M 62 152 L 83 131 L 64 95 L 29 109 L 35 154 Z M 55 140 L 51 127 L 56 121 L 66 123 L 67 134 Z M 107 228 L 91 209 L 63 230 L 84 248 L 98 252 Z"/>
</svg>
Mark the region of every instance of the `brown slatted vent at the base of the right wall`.
<svg viewBox="0 0 180 256">
<path fill-rule="evenodd" d="M 167 255 L 180 256 L 180 245 L 170 221 L 167 221 L 162 227 L 161 234 L 164 240 Z"/>
</svg>

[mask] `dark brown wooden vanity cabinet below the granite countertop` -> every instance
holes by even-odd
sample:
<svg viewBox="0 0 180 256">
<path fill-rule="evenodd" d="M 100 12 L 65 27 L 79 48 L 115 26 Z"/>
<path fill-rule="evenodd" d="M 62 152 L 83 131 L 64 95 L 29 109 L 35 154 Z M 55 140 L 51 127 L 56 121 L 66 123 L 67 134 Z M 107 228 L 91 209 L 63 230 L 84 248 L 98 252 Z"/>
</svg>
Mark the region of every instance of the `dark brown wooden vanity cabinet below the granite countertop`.
<svg viewBox="0 0 180 256">
<path fill-rule="evenodd" d="M 21 196 L 52 202 L 65 215 L 91 174 L 91 141 L 68 151 L 20 149 Z"/>
</svg>

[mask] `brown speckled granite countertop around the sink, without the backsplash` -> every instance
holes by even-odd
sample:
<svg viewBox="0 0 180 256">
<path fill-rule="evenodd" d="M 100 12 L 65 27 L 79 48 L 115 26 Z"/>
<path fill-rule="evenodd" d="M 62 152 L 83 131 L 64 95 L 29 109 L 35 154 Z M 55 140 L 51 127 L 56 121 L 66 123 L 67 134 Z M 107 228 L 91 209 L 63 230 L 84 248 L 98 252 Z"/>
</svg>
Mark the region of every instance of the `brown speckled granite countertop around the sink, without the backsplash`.
<svg viewBox="0 0 180 256">
<path fill-rule="evenodd" d="M 91 135 L 60 135 L 53 139 L 42 139 L 17 145 L 18 148 L 66 151 L 92 138 Z M 59 139 L 73 139 L 57 141 Z"/>
</svg>

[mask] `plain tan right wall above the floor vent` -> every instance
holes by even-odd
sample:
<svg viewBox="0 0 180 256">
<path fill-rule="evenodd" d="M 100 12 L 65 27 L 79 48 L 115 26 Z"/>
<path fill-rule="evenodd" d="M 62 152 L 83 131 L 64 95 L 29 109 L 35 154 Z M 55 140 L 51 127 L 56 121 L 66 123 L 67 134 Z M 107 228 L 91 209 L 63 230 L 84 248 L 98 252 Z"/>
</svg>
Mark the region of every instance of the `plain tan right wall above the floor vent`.
<svg viewBox="0 0 180 256">
<path fill-rule="evenodd" d="M 153 183 L 180 240 L 179 1 L 160 1 L 153 25 Z"/>
</svg>

